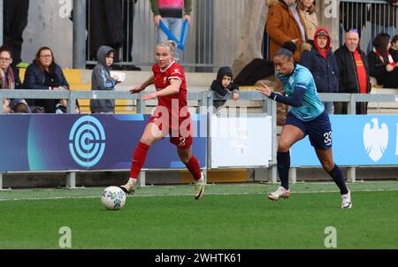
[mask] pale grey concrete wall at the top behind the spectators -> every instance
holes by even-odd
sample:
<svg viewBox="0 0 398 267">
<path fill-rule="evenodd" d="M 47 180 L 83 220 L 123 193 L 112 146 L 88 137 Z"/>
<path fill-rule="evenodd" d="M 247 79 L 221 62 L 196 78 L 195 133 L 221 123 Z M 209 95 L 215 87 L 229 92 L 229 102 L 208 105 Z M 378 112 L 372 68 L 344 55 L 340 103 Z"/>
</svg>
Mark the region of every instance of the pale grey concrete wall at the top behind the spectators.
<svg viewBox="0 0 398 267">
<path fill-rule="evenodd" d="M 115 0 L 116 1 L 116 0 Z M 193 1 L 192 24 L 188 30 L 186 50 L 181 55 L 182 62 L 195 62 L 196 1 Z M 73 22 L 68 19 L 72 0 L 34 0 L 30 2 L 28 24 L 23 34 L 22 60 L 31 63 L 36 51 L 42 46 L 54 50 L 57 63 L 71 67 L 73 60 Z M 232 65 L 235 48 L 239 42 L 241 14 L 245 1 L 214 1 L 214 50 L 215 65 Z M 218 16 L 218 14 L 224 14 Z M 204 15 L 203 15 L 204 16 Z M 136 4 L 134 18 L 134 62 L 150 65 L 154 62 L 156 28 L 150 11 L 149 0 Z M 149 66 L 144 68 L 149 70 Z"/>
</svg>

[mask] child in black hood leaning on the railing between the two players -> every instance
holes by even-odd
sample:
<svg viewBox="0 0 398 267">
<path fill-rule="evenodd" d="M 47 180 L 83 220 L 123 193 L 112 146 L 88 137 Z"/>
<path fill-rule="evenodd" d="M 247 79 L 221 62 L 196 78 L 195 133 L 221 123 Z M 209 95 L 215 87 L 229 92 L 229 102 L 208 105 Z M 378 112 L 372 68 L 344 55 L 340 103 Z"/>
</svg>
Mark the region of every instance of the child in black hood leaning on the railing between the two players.
<svg viewBox="0 0 398 267">
<path fill-rule="evenodd" d="M 215 113 L 226 103 L 226 99 L 232 97 L 234 101 L 239 99 L 239 87 L 233 83 L 233 72 L 230 67 L 223 66 L 218 69 L 217 79 L 213 80 L 210 89 L 223 99 L 214 100 Z"/>
</svg>

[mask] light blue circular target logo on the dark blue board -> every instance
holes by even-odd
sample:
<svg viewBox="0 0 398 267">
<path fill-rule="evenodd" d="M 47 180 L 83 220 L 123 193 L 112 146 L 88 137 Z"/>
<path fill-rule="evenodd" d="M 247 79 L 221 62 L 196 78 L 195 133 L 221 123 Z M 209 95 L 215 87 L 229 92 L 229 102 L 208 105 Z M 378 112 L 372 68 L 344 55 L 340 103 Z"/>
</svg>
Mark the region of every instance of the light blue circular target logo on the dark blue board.
<svg viewBox="0 0 398 267">
<path fill-rule="evenodd" d="M 105 151 L 105 131 L 101 122 L 92 116 L 79 118 L 69 133 L 69 151 L 80 166 L 96 165 Z"/>
</svg>

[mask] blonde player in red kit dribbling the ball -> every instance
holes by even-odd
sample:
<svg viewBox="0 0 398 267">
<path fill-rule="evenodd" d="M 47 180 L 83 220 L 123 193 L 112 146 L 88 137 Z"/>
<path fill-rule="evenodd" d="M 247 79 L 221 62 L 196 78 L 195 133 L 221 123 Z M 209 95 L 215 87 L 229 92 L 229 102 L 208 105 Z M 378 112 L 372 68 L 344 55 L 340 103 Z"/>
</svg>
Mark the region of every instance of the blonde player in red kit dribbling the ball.
<svg viewBox="0 0 398 267">
<path fill-rule="evenodd" d="M 140 86 L 130 89 L 132 94 L 139 93 L 154 84 L 157 91 L 142 95 L 142 100 L 157 98 L 158 104 L 134 151 L 130 179 L 126 185 L 120 186 L 127 194 L 134 194 L 137 178 L 145 163 L 149 148 L 153 143 L 170 134 L 170 142 L 177 147 L 180 160 L 194 177 L 195 199 L 198 200 L 203 195 L 204 175 L 191 149 L 191 118 L 187 106 L 185 72 L 174 60 L 176 50 L 176 42 L 159 42 L 156 47 L 157 63 L 152 65 L 153 75 Z"/>
</svg>

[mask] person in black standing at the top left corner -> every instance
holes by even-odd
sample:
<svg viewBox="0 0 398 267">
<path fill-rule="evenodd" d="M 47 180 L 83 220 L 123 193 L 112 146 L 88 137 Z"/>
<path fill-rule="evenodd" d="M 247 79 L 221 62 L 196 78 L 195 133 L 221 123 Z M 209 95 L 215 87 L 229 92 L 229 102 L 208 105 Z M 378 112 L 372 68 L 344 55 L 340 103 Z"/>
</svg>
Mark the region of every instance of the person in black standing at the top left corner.
<svg viewBox="0 0 398 267">
<path fill-rule="evenodd" d="M 27 27 L 27 14 L 29 10 L 29 0 L 4 0 L 4 45 L 10 48 L 14 57 L 14 65 L 18 65 L 22 43 L 22 34 Z"/>
</svg>

